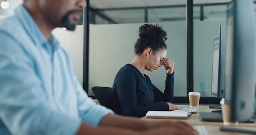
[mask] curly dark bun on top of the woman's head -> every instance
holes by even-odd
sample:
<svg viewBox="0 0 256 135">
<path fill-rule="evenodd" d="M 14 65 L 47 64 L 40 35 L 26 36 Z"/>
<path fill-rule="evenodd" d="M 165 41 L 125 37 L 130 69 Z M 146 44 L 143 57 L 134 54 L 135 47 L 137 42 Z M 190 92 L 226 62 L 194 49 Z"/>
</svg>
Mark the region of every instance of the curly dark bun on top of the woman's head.
<svg viewBox="0 0 256 135">
<path fill-rule="evenodd" d="M 164 41 L 167 40 L 166 32 L 158 24 L 156 25 L 144 24 L 140 26 L 139 33 L 140 34 L 138 35 L 141 38 L 156 39 L 156 40 L 163 39 Z"/>
</svg>

